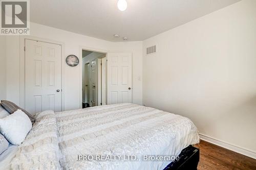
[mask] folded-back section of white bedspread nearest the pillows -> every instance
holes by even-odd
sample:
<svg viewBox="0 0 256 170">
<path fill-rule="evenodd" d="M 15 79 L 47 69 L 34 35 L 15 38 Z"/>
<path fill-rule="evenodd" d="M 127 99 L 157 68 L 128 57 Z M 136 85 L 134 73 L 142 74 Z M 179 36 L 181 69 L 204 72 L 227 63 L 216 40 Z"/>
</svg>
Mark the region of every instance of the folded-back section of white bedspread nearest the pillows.
<svg viewBox="0 0 256 170">
<path fill-rule="evenodd" d="M 61 169 L 55 114 L 40 112 L 25 141 L 18 145 L 13 158 L 5 158 L 5 169 Z M 6 160 L 8 159 L 8 160 Z"/>
</svg>

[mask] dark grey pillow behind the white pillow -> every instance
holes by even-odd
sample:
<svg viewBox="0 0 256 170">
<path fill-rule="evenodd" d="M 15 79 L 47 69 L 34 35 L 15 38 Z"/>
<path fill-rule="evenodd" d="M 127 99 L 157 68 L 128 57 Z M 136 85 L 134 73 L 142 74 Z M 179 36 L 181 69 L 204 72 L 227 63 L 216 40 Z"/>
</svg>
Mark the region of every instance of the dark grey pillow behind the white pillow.
<svg viewBox="0 0 256 170">
<path fill-rule="evenodd" d="M 3 108 L 8 111 L 10 114 L 14 113 L 15 111 L 17 111 L 18 109 L 19 110 L 22 110 L 25 114 L 27 114 L 31 120 L 32 123 L 35 122 L 35 117 L 31 114 L 29 114 L 29 112 L 27 112 L 26 110 L 18 107 L 17 105 L 15 105 L 14 103 L 10 102 L 10 101 L 4 101 L 2 100 L 1 101 L 2 103 L 0 103 Z"/>
</svg>

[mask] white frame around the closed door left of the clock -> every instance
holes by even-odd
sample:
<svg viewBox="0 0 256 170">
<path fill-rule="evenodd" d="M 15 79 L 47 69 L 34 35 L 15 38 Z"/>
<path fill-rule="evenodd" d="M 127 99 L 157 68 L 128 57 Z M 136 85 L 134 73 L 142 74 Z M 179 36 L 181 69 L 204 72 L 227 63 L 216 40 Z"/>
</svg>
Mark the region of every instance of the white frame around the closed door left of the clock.
<svg viewBox="0 0 256 170">
<path fill-rule="evenodd" d="M 54 41 L 45 38 L 39 38 L 34 36 L 20 36 L 19 37 L 19 106 L 25 109 L 25 40 L 34 40 L 34 41 L 42 41 L 46 43 L 52 43 L 60 45 L 61 48 L 61 111 L 65 110 L 65 59 L 64 59 L 64 48 L 65 44 L 63 42 Z"/>
</svg>

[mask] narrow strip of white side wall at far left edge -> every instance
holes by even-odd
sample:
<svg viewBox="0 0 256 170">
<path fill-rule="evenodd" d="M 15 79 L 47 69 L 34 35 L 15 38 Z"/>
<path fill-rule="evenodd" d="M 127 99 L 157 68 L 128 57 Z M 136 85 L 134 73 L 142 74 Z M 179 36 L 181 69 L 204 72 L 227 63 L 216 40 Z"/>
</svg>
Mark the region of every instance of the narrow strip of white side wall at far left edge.
<svg viewBox="0 0 256 170">
<path fill-rule="evenodd" d="M 0 36 L 0 100 L 6 99 L 6 36 Z"/>
</svg>

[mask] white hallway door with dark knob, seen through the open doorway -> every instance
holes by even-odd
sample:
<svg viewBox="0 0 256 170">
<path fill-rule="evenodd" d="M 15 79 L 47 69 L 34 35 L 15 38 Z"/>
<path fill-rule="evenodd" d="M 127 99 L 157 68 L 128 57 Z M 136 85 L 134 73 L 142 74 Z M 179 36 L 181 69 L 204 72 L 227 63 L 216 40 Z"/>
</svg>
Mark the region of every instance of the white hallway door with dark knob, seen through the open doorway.
<svg viewBox="0 0 256 170">
<path fill-rule="evenodd" d="M 91 61 L 91 70 L 90 70 L 90 79 L 91 79 L 91 106 L 96 106 L 96 60 Z"/>
</svg>

